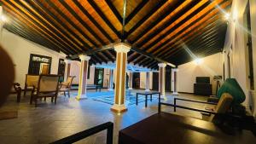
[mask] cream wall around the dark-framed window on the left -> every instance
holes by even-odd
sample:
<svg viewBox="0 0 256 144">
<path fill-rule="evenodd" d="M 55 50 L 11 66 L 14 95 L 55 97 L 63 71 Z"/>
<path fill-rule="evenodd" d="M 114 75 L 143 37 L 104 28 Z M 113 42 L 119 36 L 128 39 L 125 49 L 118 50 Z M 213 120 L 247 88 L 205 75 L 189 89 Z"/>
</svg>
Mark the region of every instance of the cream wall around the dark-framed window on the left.
<svg viewBox="0 0 256 144">
<path fill-rule="evenodd" d="M 15 82 L 20 83 L 24 88 L 26 73 L 28 72 L 29 59 L 31 54 L 46 55 L 52 58 L 51 74 L 57 74 L 59 59 L 65 58 L 66 55 L 47 49 L 42 45 L 33 43 L 23 37 L 17 36 L 3 29 L 1 45 L 15 63 Z"/>
</svg>

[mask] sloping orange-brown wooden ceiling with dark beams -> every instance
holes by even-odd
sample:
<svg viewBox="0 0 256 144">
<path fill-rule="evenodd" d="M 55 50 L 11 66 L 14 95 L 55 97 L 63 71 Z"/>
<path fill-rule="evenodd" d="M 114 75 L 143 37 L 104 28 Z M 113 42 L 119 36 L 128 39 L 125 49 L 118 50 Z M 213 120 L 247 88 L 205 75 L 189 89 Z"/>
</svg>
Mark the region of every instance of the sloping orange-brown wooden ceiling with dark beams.
<svg viewBox="0 0 256 144">
<path fill-rule="evenodd" d="M 90 63 L 115 60 L 111 43 L 130 43 L 128 61 L 156 69 L 223 49 L 231 0 L 2 0 L 4 27 Z M 90 53 L 89 53 L 90 52 Z"/>
</svg>

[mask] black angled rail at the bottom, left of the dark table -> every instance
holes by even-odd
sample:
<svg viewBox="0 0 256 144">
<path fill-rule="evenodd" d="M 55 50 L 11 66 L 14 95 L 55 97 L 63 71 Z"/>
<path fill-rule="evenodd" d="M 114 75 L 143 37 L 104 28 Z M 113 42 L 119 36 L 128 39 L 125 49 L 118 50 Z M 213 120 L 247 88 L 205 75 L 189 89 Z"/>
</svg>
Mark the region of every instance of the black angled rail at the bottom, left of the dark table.
<svg viewBox="0 0 256 144">
<path fill-rule="evenodd" d="M 113 144 L 113 123 L 108 122 L 97 125 L 96 127 L 90 128 L 89 130 L 81 131 L 77 134 L 67 136 L 61 140 L 54 141 L 51 144 L 69 144 L 76 141 L 80 141 L 90 135 L 94 135 L 102 130 L 107 130 L 107 144 Z"/>
</svg>

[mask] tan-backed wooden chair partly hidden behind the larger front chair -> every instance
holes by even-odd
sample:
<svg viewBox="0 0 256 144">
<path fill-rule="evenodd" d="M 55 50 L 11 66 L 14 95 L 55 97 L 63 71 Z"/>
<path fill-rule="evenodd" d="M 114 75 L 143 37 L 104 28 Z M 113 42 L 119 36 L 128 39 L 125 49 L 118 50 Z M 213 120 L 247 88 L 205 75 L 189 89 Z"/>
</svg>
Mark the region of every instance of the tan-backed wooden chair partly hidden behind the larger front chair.
<svg viewBox="0 0 256 144">
<path fill-rule="evenodd" d="M 39 75 L 26 74 L 24 96 L 26 96 L 26 91 L 32 91 L 33 87 L 38 85 L 38 79 Z"/>
</svg>

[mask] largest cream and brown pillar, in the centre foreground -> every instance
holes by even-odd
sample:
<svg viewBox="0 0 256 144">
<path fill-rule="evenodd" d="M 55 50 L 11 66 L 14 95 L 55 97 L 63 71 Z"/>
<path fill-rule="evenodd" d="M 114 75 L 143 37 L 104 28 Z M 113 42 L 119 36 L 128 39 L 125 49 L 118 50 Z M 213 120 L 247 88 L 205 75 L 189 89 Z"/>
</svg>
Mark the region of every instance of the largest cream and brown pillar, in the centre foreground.
<svg viewBox="0 0 256 144">
<path fill-rule="evenodd" d="M 114 104 L 111 107 L 113 112 L 125 112 L 125 80 L 126 80 L 126 64 L 127 52 L 131 47 L 125 43 L 118 43 L 113 46 L 116 51 L 116 72 L 115 72 L 115 88 L 114 88 Z"/>
</svg>

